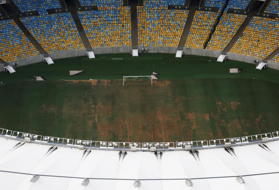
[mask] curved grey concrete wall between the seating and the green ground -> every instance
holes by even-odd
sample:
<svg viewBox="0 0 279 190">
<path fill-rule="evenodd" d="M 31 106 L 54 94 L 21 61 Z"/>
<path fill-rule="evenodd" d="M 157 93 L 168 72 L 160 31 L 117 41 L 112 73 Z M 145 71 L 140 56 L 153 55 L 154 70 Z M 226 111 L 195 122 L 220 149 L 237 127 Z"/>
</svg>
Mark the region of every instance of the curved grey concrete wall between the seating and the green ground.
<svg viewBox="0 0 279 190">
<path fill-rule="evenodd" d="M 175 54 L 177 47 L 157 47 L 157 46 L 139 46 L 138 50 L 139 53 L 142 53 L 142 48 L 147 49 L 144 53 L 172 53 Z M 78 57 L 78 56 L 86 56 L 86 49 L 79 49 L 73 51 L 61 51 L 57 53 L 49 53 L 49 57 L 53 60 L 62 59 L 62 58 L 70 58 L 70 57 Z M 132 54 L 132 47 L 102 47 L 102 48 L 93 48 L 93 52 L 97 54 L 110 54 L 110 53 L 131 53 Z M 208 49 L 191 49 L 191 48 L 183 48 L 184 55 L 200 55 L 200 56 L 208 56 L 208 57 L 215 57 L 217 58 L 221 55 L 221 51 L 212 51 Z M 247 55 L 239 55 L 231 52 L 227 52 L 227 58 L 230 60 L 242 61 L 246 63 L 254 63 L 253 60 L 262 60 L 259 58 L 254 58 Z M 42 62 L 44 55 L 37 55 L 31 58 L 25 58 L 17 61 L 10 62 L 9 64 L 18 63 L 17 67 L 33 64 L 37 62 Z M 267 61 L 268 67 L 272 69 L 279 70 L 279 63 Z M 0 65 L 0 71 L 3 71 L 3 64 Z"/>
</svg>

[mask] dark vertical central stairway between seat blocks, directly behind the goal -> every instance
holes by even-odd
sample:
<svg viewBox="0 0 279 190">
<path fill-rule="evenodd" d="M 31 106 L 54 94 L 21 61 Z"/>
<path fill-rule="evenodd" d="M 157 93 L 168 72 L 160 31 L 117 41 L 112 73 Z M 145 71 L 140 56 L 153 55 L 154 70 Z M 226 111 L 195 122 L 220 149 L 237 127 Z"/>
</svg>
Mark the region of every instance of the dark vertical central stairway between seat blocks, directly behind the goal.
<svg viewBox="0 0 279 190">
<path fill-rule="evenodd" d="M 137 47 L 137 1 L 129 1 L 131 6 L 131 32 L 132 32 L 132 46 Z"/>
</svg>

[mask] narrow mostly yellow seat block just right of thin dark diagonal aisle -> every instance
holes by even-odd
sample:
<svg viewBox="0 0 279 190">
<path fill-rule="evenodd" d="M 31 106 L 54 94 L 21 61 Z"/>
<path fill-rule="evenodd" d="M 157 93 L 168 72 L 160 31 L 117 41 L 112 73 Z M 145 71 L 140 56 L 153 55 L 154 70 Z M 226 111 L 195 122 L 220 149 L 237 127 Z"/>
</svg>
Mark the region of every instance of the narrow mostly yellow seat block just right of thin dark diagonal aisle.
<svg viewBox="0 0 279 190">
<path fill-rule="evenodd" d="M 228 43 L 230 43 L 232 37 L 234 37 L 246 17 L 246 15 L 224 13 L 220 18 L 206 49 L 223 51 Z"/>
</svg>

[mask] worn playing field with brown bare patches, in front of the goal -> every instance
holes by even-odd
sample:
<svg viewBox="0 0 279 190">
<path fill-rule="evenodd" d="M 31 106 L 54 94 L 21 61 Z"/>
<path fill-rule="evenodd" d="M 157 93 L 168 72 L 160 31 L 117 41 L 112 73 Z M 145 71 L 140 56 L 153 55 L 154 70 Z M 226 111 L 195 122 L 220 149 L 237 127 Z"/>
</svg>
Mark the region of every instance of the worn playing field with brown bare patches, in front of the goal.
<svg viewBox="0 0 279 190">
<path fill-rule="evenodd" d="M 74 139 L 174 141 L 278 130 L 278 85 L 253 79 L 32 81 L 1 87 L 2 128 Z M 268 93 L 267 93 L 268 92 Z M 6 97 L 6 98 L 5 98 Z"/>
</svg>

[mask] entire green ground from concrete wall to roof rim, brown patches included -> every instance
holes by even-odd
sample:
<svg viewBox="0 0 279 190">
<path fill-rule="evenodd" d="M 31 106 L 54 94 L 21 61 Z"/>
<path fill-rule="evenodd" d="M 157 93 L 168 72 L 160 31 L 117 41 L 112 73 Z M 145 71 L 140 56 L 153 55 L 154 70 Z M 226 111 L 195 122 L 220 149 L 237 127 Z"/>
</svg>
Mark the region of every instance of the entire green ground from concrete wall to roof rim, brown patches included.
<svg viewBox="0 0 279 190">
<path fill-rule="evenodd" d="M 273 69 L 172 54 L 110 54 L 54 62 L 0 73 L 1 128 L 127 142 L 222 139 L 278 130 L 279 71 Z M 244 70 L 230 74 L 229 68 Z M 69 70 L 85 73 L 69 76 Z M 153 86 L 149 79 L 126 80 L 123 86 L 123 76 L 153 71 L 160 73 Z"/>
</svg>

